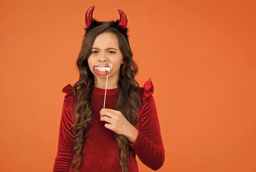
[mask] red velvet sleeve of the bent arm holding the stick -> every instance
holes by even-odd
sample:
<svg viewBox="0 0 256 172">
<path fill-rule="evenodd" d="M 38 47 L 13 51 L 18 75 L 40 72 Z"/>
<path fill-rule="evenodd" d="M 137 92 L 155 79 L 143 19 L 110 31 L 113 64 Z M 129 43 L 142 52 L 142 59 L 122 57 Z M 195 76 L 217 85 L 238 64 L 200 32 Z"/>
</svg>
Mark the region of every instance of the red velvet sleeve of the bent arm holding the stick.
<svg viewBox="0 0 256 172">
<path fill-rule="evenodd" d="M 143 90 L 138 136 L 133 144 L 129 144 L 143 164 L 150 169 L 157 170 L 163 166 L 165 150 L 160 133 L 157 108 L 152 95 L 154 86 L 151 78 L 145 82 Z"/>
</svg>

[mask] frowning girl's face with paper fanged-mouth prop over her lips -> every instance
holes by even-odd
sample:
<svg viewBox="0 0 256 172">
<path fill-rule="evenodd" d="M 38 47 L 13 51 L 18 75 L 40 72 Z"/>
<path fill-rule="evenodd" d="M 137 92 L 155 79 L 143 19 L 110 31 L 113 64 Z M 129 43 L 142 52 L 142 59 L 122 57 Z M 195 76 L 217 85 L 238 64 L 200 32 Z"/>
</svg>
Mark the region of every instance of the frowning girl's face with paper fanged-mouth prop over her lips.
<svg viewBox="0 0 256 172">
<path fill-rule="evenodd" d="M 108 74 L 108 66 L 104 64 L 113 64 L 112 70 L 109 72 L 108 77 L 119 75 L 119 69 L 122 62 L 122 53 L 119 50 L 118 37 L 116 34 L 105 32 L 99 34 L 91 49 L 91 54 L 88 57 L 88 64 L 93 75 L 99 78 L 105 78 Z M 99 66 L 101 65 L 101 66 Z M 99 67 L 97 67 L 99 66 Z M 107 68 L 105 68 L 107 67 Z M 109 66 L 110 68 L 112 65 Z"/>
</svg>

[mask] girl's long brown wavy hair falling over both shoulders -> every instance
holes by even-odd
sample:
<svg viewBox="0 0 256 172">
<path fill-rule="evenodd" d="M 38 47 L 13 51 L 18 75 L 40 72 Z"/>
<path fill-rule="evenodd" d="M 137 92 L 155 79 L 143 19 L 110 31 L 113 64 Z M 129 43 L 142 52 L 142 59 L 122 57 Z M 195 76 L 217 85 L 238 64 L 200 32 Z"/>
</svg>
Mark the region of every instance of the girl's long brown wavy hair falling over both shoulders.
<svg viewBox="0 0 256 172">
<path fill-rule="evenodd" d="M 86 30 L 86 29 L 85 29 Z M 82 42 L 81 51 L 76 61 L 79 70 L 79 80 L 73 86 L 73 93 L 77 99 L 74 107 L 76 121 L 71 128 L 74 133 L 74 156 L 72 169 L 78 172 L 81 164 L 83 153 L 83 145 L 89 135 L 88 127 L 93 123 L 93 107 L 91 103 L 91 93 L 94 86 L 94 75 L 90 71 L 87 58 L 90 56 L 93 41 L 96 36 L 104 32 L 111 32 L 118 37 L 119 49 L 122 53 L 123 64 L 120 66 L 118 81 L 118 101 L 115 110 L 122 112 L 124 117 L 132 124 L 138 122 L 138 110 L 140 108 L 139 83 L 135 80 L 138 72 L 138 66 L 132 59 L 133 54 L 129 45 L 128 38 L 113 27 L 113 22 L 102 22 L 101 25 L 93 28 L 86 34 Z M 129 147 L 128 139 L 123 135 L 115 133 L 116 143 L 119 146 L 119 163 L 122 172 L 129 172 L 127 159 L 133 152 Z"/>
</svg>

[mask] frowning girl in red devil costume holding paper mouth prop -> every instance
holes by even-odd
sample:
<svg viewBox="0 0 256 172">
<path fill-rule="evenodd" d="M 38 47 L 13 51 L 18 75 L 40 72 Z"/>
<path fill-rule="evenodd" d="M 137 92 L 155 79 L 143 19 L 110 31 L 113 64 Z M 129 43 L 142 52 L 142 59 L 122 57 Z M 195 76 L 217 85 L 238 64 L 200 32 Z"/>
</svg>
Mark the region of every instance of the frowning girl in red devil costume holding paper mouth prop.
<svg viewBox="0 0 256 172">
<path fill-rule="evenodd" d="M 124 12 L 118 10 L 120 20 L 101 22 L 93 19 L 94 8 L 86 12 L 76 61 L 79 80 L 62 90 L 66 95 L 53 172 L 138 172 L 135 155 L 157 170 L 165 151 L 154 86 L 149 79 L 139 87 L 134 79 L 138 67 Z"/>
</svg>

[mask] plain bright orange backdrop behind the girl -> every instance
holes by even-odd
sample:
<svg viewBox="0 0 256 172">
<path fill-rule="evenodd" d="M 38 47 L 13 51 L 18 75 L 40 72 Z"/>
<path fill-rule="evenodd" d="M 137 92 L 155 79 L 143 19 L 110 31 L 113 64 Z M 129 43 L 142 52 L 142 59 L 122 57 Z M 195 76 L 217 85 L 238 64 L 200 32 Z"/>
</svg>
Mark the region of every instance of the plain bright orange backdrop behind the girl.
<svg viewBox="0 0 256 172">
<path fill-rule="evenodd" d="M 96 19 L 117 19 L 117 9 L 128 16 L 137 80 L 155 86 L 166 150 L 159 172 L 256 172 L 253 0 L 0 3 L 1 172 L 52 171 L 61 90 L 78 79 L 92 5 Z"/>
</svg>

